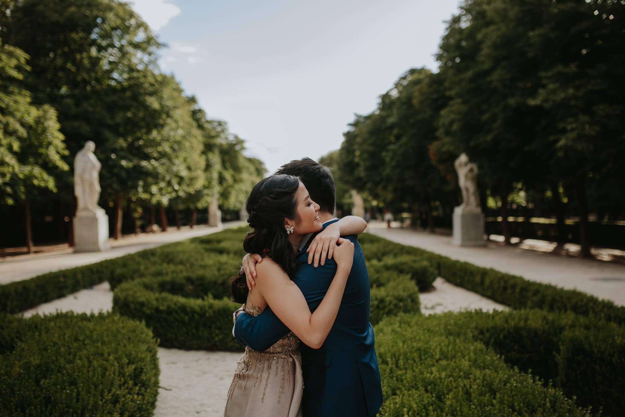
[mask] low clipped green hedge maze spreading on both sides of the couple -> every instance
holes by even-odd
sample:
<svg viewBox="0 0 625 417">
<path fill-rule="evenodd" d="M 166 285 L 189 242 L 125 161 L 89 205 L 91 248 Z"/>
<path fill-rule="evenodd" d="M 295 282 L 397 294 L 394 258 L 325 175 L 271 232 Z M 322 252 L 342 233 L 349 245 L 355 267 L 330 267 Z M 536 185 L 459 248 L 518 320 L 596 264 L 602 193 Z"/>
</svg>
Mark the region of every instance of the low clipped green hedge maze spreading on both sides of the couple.
<svg viewBox="0 0 625 417">
<path fill-rule="evenodd" d="M 157 345 L 241 350 L 226 281 L 240 267 L 245 231 L 0 286 L 7 313 L 102 281 L 114 290 L 109 314 L 0 315 L 0 416 L 150 416 Z M 625 308 L 369 234 L 359 242 L 380 416 L 625 414 Z M 419 290 L 437 276 L 512 310 L 423 316 Z"/>
</svg>

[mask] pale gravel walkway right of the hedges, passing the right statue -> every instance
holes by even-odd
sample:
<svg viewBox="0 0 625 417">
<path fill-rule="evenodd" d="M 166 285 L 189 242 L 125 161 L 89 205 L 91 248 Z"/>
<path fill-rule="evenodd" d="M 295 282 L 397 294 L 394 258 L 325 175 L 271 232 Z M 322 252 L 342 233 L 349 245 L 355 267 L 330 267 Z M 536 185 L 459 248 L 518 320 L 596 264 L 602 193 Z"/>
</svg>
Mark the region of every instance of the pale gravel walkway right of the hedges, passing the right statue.
<svg viewBox="0 0 625 417">
<path fill-rule="evenodd" d="M 399 223 L 393 224 L 398 226 Z M 579 289 L 625 306 L 625 264 L 557 256 L 551 253 L 502 246 L 488 242 L 481 248 L 454 246 L 451 236 L 409 228 L 386 228 L 379 221 L 369 223 L 367 232 L 391 241 L 416 246 L 452 259 L 520 275 L 531 281 Z"/>
</svg>

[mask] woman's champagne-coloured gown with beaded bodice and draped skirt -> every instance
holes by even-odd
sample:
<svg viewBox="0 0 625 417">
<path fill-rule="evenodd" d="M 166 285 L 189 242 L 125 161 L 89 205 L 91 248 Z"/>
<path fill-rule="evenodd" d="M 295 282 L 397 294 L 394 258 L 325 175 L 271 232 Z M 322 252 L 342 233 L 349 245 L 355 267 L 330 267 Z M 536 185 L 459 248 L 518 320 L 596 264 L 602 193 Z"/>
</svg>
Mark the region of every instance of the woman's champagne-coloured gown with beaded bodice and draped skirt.
<svg viewBox="0 0 625 417">
<path fill-rule="evenodd" d="M 262 313 L 249 302 L 244 310 L 250 316 Z M 303 391 L 302 356 L 295 334 L 287 334 L 262 352 L 246 346 L 228 390 L 224 417 L 301 417 Z"/>
</svg>

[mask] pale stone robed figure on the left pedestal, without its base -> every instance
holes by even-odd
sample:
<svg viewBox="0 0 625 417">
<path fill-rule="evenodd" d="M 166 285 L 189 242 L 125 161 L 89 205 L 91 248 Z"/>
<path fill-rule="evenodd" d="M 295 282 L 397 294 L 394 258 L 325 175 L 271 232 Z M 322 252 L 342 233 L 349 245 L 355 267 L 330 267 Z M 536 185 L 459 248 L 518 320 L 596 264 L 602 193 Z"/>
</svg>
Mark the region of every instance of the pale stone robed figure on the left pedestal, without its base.
<svg viewBox="0 0 625 417">
<path fill-rule="evenodd" d="M 98 206 L 101 191 L 98 174 L 102 164 L 93 153 L 95 149 L 96 144 L 87 141 L 74 158 L 74 194 L 78 199 L 77 212 L 104 212 L 104 209 Z"/>
</svg>

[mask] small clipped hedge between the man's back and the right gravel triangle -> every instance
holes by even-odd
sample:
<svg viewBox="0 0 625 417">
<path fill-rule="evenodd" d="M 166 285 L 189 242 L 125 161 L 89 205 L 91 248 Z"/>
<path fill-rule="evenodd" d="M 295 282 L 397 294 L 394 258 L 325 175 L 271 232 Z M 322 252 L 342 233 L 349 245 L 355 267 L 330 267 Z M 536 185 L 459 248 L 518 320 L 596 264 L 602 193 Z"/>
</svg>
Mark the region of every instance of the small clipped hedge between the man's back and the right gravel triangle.
<svg viewBox="0 0 625 417">
<path fill-rule="evenodd" d="M 385 317 L 398 313 L 421 314 L 419 288 L 409 275 L 399 275 L 382 287 L 371 289 L 369 322 L 376 324 Z"/>
</svg>

